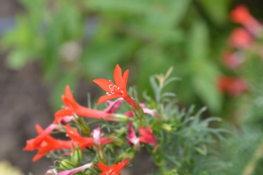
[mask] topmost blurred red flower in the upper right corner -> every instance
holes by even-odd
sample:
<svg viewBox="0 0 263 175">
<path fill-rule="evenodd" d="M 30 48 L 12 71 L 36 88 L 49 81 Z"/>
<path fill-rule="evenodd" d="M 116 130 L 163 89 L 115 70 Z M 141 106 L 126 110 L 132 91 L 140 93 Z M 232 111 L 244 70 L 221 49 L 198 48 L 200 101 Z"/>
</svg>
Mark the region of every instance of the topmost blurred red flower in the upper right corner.
<svg viewBox="0 0 263 175">
<path fill-rule="evenodd" d="M 259 22 L 251 16 L 248 9 L 244 5 L 236 6 L 231 12 L 233 22 L 243 24 L 249 31 L 256 34 L 260 29 Z"/>
</svg>

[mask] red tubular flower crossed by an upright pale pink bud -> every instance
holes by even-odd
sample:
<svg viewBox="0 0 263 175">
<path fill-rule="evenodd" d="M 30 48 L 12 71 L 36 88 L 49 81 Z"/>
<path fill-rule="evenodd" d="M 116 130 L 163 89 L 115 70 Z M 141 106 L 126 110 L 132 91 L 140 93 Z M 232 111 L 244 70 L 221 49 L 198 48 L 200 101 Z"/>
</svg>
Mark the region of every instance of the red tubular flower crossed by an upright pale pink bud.
<svg viewBox="0 0 263 175">
<path fill-rule="evenodd" d="M 68 136 L 73 139 L 75 142 L 79 143 L 82 149 L 89 146 L 94 146 L 94 138 L 93 137 L 84 137 L 79 134 L 79 132 L 70 127 L 69 125 L 66 125 L 66 130 Z M 100 137 L 100 145 L 111 143 L 112 140 L 110 140 L 107 137 Z"/>
</svg>

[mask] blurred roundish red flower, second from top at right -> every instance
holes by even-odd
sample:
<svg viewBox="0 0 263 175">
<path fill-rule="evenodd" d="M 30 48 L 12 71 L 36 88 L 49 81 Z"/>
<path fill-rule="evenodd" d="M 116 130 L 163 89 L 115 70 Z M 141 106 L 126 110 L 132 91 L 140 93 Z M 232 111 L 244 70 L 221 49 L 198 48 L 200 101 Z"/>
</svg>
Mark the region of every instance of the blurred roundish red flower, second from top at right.
<svg viewBox="0 0 263 175">
<path fill-rule="evenodd" d="M 253 44 L 253 38 L 245 29 L 235 28 L 230 35 L 229 42 L 233 47 L 247 48 Z"/>
</svg>

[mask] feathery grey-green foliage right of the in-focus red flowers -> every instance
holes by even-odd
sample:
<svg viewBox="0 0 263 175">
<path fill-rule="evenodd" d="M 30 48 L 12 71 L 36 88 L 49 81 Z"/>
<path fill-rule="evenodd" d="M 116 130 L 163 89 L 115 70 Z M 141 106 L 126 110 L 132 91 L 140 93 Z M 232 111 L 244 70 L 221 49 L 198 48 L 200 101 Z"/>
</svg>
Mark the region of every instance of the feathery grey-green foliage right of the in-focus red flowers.
<svg viewBox="0 0 263 175">
<path fill-rule="evenodd" d="M 167 85 L 173 80 L 176 78 L 165 79 L 164 84 Z M 203 119 L 201 114 L 206 110 L 205 107 L 196 113 L 194 106 L 179 109 L 172 100 L 175 95 L 162 92 L 165 85 L 158 85 L 153 76 L 150 82 L 161 118 L 159 121 L 153 121 L 153 130 L 159 133 L 163 166 L 167 169 L 175 168 L 179 174 L 209 174 L 208 172 L 216 171 L 212 166 L 222 164 L 222 161 L 216 158 L 218 153 L 212 147 L 219 140 L 224 140 L 223 133 L 228 131 L 209 127 L 209 124 L 221 119 L 219 117 Z M 218 167 L 217 170 L 222 168 L 225 168 L 225 165 Z"/>
</svg>

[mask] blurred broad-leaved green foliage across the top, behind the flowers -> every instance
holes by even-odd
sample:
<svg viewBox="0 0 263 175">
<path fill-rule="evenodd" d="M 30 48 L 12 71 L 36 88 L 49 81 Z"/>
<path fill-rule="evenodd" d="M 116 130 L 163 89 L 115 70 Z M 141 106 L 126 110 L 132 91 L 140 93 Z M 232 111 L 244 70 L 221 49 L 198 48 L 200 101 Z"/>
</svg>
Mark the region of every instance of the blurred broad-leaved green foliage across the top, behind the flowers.
<svg viewBox="0 0 263 175">
<path fill-rule="evenodd" d="M 72 83 L 82 77 L 107 77 L 116 63 L 131 63 L 140 75 L 134 79 L 139 89 L 148 89 L 146 79 L 151 74 L 174 65 L 176 74 L 184 79 L 176 88 L 182 102 L 202 101 L 219 112 L 222 101 L 215 86 L 219 69 L 209 56 L 209 30 L 213 28 L 207 17 L 222 25 L 228 1 L 215 2 L 216 7 L 209 0 L 21 3 L 27 11 L 17 17 L 16 27 L 2 39 L 2 45 L 11 48 L 7 65 L 20 69 L 40 60 L 44 77 L 59 86 L 53 94 L 62 93 L 61 81 L 69 76 L 76 79 Z M 200 7 L 204 11 L 199 11 Z M 53 104 L 57 103 L 55 98 L 51 98 Z"/>
</svg>

